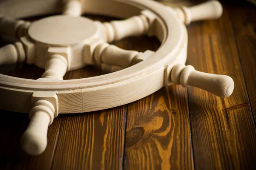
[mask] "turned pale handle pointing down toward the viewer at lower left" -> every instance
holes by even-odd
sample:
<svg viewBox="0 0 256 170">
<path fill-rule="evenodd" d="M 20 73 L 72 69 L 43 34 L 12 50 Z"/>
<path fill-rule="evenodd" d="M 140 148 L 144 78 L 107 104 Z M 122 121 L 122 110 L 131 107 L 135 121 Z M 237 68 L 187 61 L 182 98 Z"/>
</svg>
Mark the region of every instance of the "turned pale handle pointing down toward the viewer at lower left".
<svg viewBox="0 0 256 170">
<path fill-rule="evenodd" d="M 47 130 L 53 121 L 55 109 L 51 102 L 38 100 L 29 112 L 29 126 L 21 137 L 23 150 L 30 155 L 39 155 L 47 146 Z"/>
</svg>

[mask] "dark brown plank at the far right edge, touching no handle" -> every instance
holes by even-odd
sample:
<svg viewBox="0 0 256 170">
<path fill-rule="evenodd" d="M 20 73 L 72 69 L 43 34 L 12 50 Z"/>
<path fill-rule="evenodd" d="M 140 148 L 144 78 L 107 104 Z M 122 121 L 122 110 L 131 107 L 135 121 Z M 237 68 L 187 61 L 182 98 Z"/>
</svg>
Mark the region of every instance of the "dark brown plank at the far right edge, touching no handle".
<svg viewBox="0 0 256 170">
<path fill-rule="evenodd" d="M 249 3 L 235 5 L 236 8 L 231 6 L 228 11 L 234 28 L 250 106 L 256 120 L 256 6 Z"/>
</svg>

